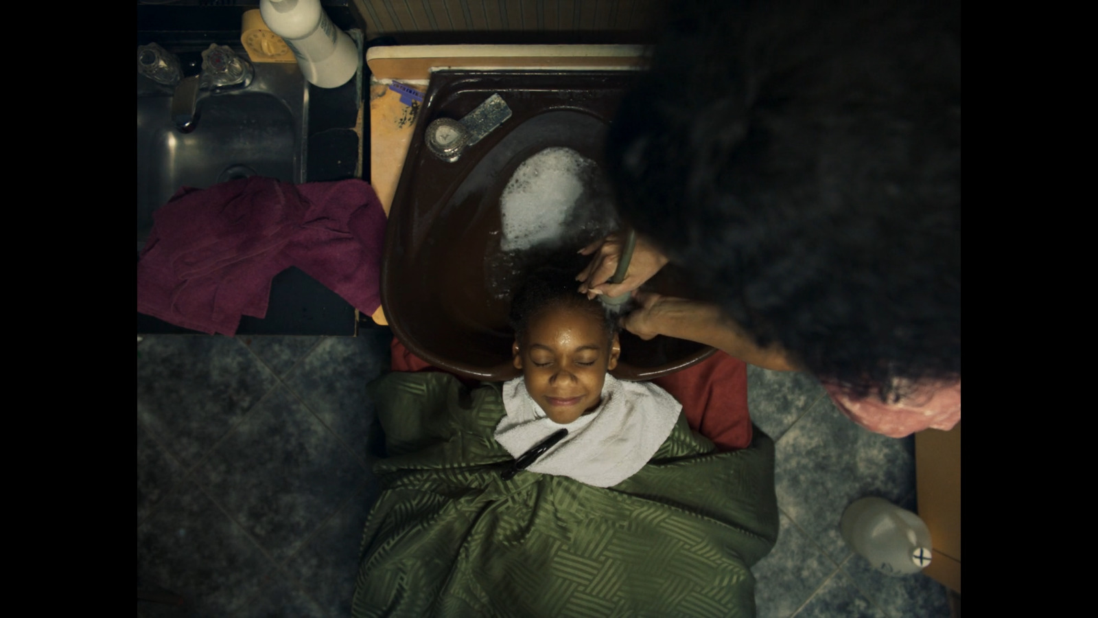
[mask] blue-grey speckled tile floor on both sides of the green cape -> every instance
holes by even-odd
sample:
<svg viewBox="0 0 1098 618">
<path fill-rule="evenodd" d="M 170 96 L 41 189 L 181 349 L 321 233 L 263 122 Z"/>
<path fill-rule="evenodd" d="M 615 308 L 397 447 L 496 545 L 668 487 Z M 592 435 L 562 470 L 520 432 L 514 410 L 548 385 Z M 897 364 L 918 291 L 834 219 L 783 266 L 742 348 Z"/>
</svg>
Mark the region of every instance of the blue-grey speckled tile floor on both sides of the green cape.
<svg viewBox="0 0 1098 618">
<path fill-rule="evenodd" d="M 138 587 L 186 609 L 137 615 L 350 615 L 362 525 L 377 496 L 366 384 L 386 328 L 358 338 L 148 335 L 137 345 Z M 754 567 L 759 616 L 948 617 L 922 575 L 878 575 L 839 537 L 854 499 L 915 508 L 914 441 L 845 420 L 800 374 L 752 367 L 755 423 L 777 442 L 781 537 Z"/>
</svg>

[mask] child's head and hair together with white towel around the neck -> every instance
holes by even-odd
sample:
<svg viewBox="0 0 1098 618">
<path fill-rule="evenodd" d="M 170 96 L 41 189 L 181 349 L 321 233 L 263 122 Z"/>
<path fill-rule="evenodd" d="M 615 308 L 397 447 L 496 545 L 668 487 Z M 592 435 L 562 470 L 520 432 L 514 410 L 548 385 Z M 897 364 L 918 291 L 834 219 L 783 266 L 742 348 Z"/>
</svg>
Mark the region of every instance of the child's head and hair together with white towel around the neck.
<svg viewBox="0 0 1098 618">
<path fill-rule="evenodd" d="M 564 428 L 568 435 L 527 470 L 597 487 L 636 474 L 682 406 L 654 384 L 609 375 L 621 353 L 616 316 L 575 290 L 571 268 L 542 267 L 515 294 L 511 322 L 523 375 L 503 385 L 500 444 L 518 457 Z"/>
</svg>

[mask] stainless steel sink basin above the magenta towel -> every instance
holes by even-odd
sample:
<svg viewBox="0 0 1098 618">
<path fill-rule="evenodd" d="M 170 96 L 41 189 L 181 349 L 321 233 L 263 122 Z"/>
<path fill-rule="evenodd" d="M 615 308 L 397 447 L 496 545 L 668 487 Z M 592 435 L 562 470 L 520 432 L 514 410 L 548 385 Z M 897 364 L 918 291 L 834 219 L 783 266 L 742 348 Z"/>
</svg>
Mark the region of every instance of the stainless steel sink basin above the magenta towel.
<svg viewBox="0 0 1098 618">
<path fill-rule="evenodd" d="M 304 183 L 309 89 L 296 64 L 256 64 L 240 90 L 202 93 L 198 126 L 171 120 L 170 88 L 137 76 L 137 249 L 153 211 L 181 187 L 243 176 Z"/>
</svg>

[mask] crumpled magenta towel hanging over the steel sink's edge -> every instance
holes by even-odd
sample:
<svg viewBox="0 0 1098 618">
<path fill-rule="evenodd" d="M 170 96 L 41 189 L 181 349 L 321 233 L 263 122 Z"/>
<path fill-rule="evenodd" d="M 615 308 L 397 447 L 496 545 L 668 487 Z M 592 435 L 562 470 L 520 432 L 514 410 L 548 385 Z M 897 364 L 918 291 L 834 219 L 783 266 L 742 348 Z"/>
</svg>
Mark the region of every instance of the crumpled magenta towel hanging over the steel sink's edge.
<svg viewBox="0 0 1098 618">
<path fill-rule="evenodd" d="M 267 314 L 274 275 L 296 266 L 372 314 L 385 213 L 359 179 L 292 185 L 253 176 L 183 187 L 153 213 L 137 310 L 210 334 Z"/>
</svg>

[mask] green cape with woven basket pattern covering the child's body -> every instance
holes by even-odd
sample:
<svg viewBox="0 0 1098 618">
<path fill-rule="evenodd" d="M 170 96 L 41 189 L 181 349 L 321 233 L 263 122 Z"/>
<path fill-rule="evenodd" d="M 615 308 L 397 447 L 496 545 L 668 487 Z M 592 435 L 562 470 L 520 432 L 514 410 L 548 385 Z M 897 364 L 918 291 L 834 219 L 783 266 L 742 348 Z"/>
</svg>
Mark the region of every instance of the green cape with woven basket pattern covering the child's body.
<svg viewBox="0 0 1098 618">
<path fill-rule="evenodd" d="M 388 457 L 354 616 L 754 616 L 777 539 L 774 443 L 718 453 L 684 417 L 609 488 L 500 473 L 498 384 L 393 373 L 370 386 Z"/>
</svg>

